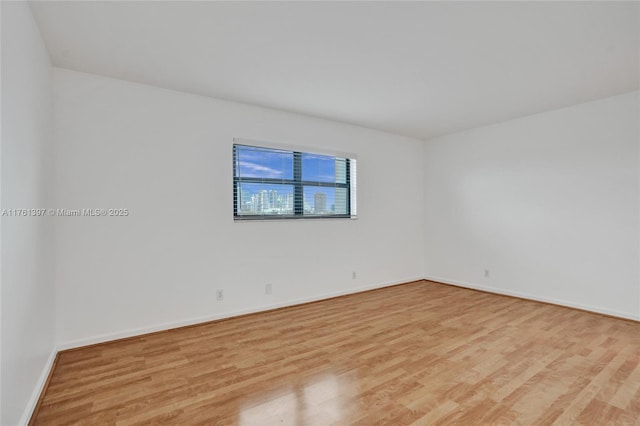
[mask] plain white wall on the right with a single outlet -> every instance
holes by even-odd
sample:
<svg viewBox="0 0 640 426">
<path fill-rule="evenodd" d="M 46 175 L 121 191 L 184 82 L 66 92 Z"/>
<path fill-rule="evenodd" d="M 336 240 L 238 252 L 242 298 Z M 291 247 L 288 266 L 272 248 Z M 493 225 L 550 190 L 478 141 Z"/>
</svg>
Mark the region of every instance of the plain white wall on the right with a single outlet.
<svg viewBox="0 0 640 426">
<path fill-rule="evenodd" d="M 640 319 L 638 98 L 426 143 L 426 275 Z"/>
</svg>

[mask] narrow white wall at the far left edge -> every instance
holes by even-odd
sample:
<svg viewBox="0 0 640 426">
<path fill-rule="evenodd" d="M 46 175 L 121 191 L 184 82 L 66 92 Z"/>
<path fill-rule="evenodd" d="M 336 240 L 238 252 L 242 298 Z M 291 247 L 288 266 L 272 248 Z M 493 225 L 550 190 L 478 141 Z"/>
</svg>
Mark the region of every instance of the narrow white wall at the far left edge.
<svg viewBox="0 0 640 426">
<path fill-rule="evenodd" d="M 50 203 L 51 65 L 29 7 L 2 2 L 2 209 Z M 54 349 L 51 221 L 2 217 L 0 424 L 25 421 Z"/>
</svg>

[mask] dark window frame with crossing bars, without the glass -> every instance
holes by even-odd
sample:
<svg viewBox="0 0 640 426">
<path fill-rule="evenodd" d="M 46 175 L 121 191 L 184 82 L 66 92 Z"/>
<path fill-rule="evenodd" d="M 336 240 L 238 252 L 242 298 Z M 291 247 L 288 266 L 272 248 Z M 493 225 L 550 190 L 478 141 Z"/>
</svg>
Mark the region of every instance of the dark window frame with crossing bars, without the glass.
<svg viewBox="0 0 640 426">
<path fill-rule="evenodd" d="M 265 178 L 265 177 L 241 177 L 237 176 L 237 154 L 236 147 L 248 147 L 258 150 L 272 152 L 286 152 L 293 156 L 293 176 L 292 179 L 282 178 Z M 345 153 L 329 153 L 324 150 L 315 150 L 311 148 L 300 148 L 292 146 L 284 146 L 279 144 L 266 144 L 251 140 L 237 139 L 233 140 L 233 220 L 298 220 L 298 219 L 357 219 L 356 215 L 356 174 L 355 162 L 356 156 Z M 345 160 L 345 183 L 339 182 L 322 182 L 314 180 L 302 180 L 302 156 L 318 155 L 326 157 L 334 157 Z M 353 172 L 353 173 L 352 173 Z M 293 214 L 239 214 L 238 213 L 238 192 L 239 184 L 253 183 L 266 185 L 291 185 L 293 187 Z M 305 187 L 324 187 L 324 188 L 342 188 L 346 190 L 347 196 L 347 213 L 345 214 L 313 214 L 304 212 L 304 188 Z"/>
</svg>

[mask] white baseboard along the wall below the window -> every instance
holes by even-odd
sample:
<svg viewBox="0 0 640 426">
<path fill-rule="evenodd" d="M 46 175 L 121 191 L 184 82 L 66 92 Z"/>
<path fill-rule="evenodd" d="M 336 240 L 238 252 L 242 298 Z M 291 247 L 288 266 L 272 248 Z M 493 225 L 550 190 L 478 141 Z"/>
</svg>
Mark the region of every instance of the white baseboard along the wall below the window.
<svg viewBox="0 0 640 426">
<path fill-rule="evenodd" d="M 304 298 L 300 298 L 300 299 L 293 299 L 293 300 L 288 300 L 286 302 L 281 302 L 281 303 L 274 303 L 274 304 L 270 304 L 270 305 L 262 305 L 262 306 L 257 306 L 257 307 L 253 307 L 253 308 L 247 308 L 247 309 L 239 309 L 239 310 L 236 310 L 236 311 L 227 311 L 227 312 L 222 312 L 222 313 L 215 314 L 215 315 L 208 315 L 208 316 L 198 317 L 198 318 L 190 318 L 190 319 L 180 320 L 180 321 L 172 321 L 172 322 L 158 324 L 158 325 L 150 326 L 150 327 L 140 327 L 140 328 L 134 328 L 134 329 L 129 329 L 129 330 L 115 332 L 115 333 L 106 333 L 106 334 L 101 334 L 101 335 L 97 335 L 97 336 L 88 337 L 88 338 L 85 338 L 85 339 L 78 339 L 78 340 L 72 340 L 72 341 L 60 343 L 60 344 L 58 344 L 58 350 L 62 351 L 62 350 L 67 350 L 67 349 L 80 348 L 80 347 L 83 347 L 83 346 L 95 345 L 95 344 L 98 344 L 98 343 L 105 343 L 105 342 L 109 342 L 109 341 L 112 341 L 112 340 L 125 339 L 127 337 L 139 336 L 139 335 L 142 335 L 142 334 L 148 334 L 148 333 L 154 333 L 154 332 L 157 332 L 157 331 L 170 330 L 172 328 L 185 327 L 185 326 L 201 324 L 201 323 L 205 323 L 205 322 L 209 322 L 209 321 L 215 321 L 215 320 L 220 320 L 220 319 L 225 319 L 225 318 L 236 317 L 236 316 L 239 316 L 239 315 L 253 314 L 253 313 L 257 313 L 257 312 L 269 311 L 269 310 L 272 310 L 272 309 L 285 308 L 287 306 L 299 305 L 301 303 L 317 302 L 319 300 L 330 299 L 332 297 L 345 296 L 345 295 L 348 295 L 348 294 L 360 293 L 360 292 L 367 291 L 367 290 L 374 290 L 374 289 L 377 289 L 377 288 L 390 287 L 390 286 L 394 286 L 394 285 L 398 285 L 398 284 L 409 283 L 409 282 L 412 282 L 412 281 L 420 281 L 422 279 L 423 279 L 422 276 L 420 276 L 420 277 L 411 277 L 411 278 L 406 278 L 406 279 L 402 279 L 402 280 L 398 280 L 398 281 L 384 282 L 384 283 L 373 284 L 373 285 L 368 285 L 368 286 L 350 288 L 349 290 L 345 290 L 345 291 L 337 291 L 337 292 L 331 292 L 331 293 L 324 293 L 324 294 L 317 295 L 317 296 L 312 296 L 312 297 L 304 297 Z"/>
</svg>

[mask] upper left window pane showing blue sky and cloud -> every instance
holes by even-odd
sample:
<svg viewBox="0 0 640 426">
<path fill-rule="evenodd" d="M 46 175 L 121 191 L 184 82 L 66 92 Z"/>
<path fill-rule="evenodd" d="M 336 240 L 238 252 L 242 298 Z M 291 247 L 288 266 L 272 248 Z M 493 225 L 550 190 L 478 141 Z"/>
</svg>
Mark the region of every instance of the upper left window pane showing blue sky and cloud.
<svg viewBox="0 0 640 426">
<path fill-rule="evenodd" d="M 236 145 L 236 177 L 293 179 L 293 153 Z"/>
</svg>

